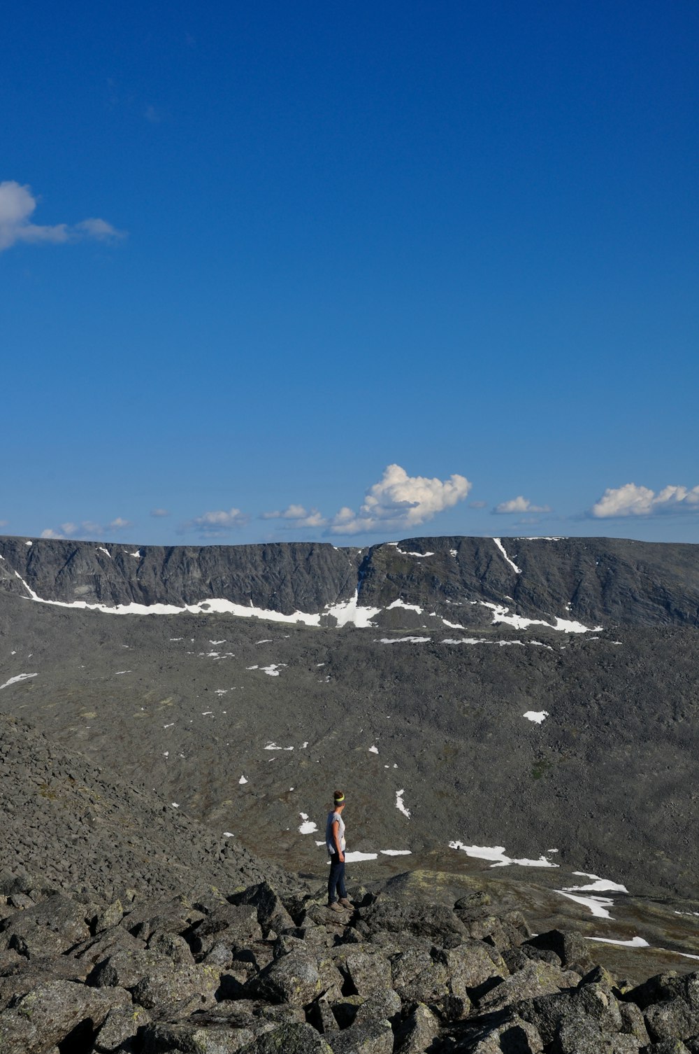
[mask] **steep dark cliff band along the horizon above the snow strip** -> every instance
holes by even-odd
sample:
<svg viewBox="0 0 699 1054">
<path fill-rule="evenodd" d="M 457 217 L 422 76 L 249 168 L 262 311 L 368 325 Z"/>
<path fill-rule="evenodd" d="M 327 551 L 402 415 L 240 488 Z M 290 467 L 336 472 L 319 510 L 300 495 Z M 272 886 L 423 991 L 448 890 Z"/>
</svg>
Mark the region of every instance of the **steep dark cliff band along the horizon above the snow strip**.
<svg viewBox="0 0 699 1054">
<path fill-rule="evenodd" d="M 124 546 L 0 539 L 0 592 L 75 604 L 175 606 L 222 600 L 320 614 L 351 602 L 393 624 L 410 604 L 460 626 L 493 605 L 528 619 L 699 624 L 699 546 L 616 539 L 422 538 L 370 549 L 322 543 Z M 396 601 L 402 602 L 396 605 Z M 488 608 L 490 605 L 490 608 Z"/>
</svg>

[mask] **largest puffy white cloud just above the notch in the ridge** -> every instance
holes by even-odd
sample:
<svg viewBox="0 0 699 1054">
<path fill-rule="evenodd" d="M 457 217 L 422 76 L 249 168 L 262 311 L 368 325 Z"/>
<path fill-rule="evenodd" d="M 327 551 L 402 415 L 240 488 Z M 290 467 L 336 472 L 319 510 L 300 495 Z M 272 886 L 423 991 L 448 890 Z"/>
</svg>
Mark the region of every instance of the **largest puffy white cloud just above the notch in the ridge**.
<svg viewBox="0 0 699 1054">
<path fill-rule="evenodd" d="M 400 465 L 388 465 L 379 483 L 368 488 L 359 513 L 346 506 L 329 521 L 332 534 L 357 534 L 417 527 L 438 512 L 462 502 L 472 484 L 463 475 L 448 480 L 408 475 Z"/>
</svg>

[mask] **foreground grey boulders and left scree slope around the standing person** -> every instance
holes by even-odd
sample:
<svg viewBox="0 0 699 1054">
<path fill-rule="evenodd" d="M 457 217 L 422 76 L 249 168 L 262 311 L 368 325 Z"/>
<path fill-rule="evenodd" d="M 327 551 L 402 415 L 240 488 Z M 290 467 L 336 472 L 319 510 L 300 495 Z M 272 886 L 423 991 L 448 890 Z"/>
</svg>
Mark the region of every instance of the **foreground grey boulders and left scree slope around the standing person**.
<svg viewBox="0 0 699 1054">
<path fill-rule="evenodd" d="M 0 777 L 2 1054 L 699 1051 L 699 973 L 634 983 L 482 883 L 331 912 L 6 717 Z"/>
</svg>

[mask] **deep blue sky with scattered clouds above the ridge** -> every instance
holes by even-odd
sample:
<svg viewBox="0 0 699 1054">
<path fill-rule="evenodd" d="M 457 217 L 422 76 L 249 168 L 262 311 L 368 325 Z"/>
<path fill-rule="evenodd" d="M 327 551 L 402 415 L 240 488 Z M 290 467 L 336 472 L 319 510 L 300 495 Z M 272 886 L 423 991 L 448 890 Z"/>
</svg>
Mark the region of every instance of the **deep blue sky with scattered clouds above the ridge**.
<svg viewBox="0 0 699 1054">
<path fill-rule="evenodd" d="M 0 530 L 699 542 L 698 44 L 690 0 L 16 8 Z"/>
</svg>

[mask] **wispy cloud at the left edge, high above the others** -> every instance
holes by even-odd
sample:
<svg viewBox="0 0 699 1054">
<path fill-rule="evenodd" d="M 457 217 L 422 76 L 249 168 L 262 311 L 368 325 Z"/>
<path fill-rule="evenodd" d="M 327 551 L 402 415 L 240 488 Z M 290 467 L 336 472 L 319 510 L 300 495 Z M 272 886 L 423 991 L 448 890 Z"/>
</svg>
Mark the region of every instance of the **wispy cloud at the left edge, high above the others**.
<svg viewBox="0 0 699 1054">
<path fill-rule="evenodd" d="M 33 245 L 64 241 L 77 241 L 80 238 L 94 238 L 98 241 L 114 241 L 124 236 L 123 231 L 117 231 L 105 219 L 92 217 L 82 219 L 73 226 L 54 223 L 51 227 L 33 223 L 31 216 L 37 207 L 37 198 L 29 187 L 22 187 L 14 179 L 0 182 L 0 252 L 9 249 L 17 242 Z"/>
</svg>

